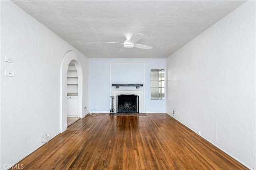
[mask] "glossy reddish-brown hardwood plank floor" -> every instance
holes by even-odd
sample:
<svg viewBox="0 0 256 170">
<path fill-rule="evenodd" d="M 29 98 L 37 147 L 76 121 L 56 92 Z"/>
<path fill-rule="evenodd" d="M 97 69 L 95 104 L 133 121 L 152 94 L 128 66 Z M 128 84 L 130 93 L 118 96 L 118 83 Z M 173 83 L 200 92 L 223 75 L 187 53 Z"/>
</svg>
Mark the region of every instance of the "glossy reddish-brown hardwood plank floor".
<svg viewBox="0 0 256 170">
<path fill-rule="evenodd" d="M 247 169 L 169 115 L 147 115 L 86 115 L 18 164 L 26 170 Z"/>
</svg>

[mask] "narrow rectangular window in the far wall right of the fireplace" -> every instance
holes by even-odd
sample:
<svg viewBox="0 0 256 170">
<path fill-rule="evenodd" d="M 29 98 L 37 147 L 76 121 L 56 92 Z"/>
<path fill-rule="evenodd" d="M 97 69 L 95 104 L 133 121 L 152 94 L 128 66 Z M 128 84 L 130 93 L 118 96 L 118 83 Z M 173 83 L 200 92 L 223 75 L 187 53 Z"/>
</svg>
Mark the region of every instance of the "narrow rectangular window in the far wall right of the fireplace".
<svg viewBox="0 0 256 170">
<path fill-rule="evenodd" d="M 164 99 L 164 69 L 151 69 L 151 99 Z"/>
</svg>

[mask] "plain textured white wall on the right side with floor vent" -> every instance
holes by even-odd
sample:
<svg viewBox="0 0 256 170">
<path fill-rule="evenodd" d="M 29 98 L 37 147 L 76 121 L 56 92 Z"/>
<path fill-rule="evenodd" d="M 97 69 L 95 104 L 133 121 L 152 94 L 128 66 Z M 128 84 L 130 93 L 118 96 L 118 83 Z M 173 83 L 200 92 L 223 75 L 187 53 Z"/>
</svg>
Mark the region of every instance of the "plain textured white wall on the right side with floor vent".
<svg viewBox="0 0 256 170">
<path fill-rule="evenodd" d="M 255 168 L 255 1 L 248 1 L 167 59 L 167 112 Z"/>
</svg>

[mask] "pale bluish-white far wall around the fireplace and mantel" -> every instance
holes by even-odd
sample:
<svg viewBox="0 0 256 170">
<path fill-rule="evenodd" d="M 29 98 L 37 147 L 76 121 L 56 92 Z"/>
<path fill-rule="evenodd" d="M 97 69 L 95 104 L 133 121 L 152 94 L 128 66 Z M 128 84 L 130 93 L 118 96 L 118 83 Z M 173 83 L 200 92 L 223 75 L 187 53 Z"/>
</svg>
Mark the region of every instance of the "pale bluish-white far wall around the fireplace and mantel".
<svg viewBox="0 0 256 170">
<path fill-rule="evenodd" d="M 144 68 L 137 68 L 138 65 Z M 129 73 L 126 66 L 131 68 Z M 166 100 L 150 99 L 151 68 L 165 69 L 166 59 L 89 59 L 89 111 L 109 113 L 110 96 L 116 90 L 111 84 L 126 83 L 144 84 L 139 88 L 143 93 L 142 112 L 166 113 Z M 136 87 L 120 86 L 119 90 L 136 90 Z"/>
</svg>

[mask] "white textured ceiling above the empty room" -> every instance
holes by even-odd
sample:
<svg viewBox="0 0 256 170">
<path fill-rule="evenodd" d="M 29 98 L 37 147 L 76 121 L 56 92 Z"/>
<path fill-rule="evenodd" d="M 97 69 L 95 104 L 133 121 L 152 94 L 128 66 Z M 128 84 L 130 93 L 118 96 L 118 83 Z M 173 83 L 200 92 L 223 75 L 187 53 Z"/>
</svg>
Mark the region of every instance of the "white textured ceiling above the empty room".
<svg viewBox="0 0 256 170">
<path fill-rule="evenodd" d="M 166 58 L 245 1 L 12 1 L 88 58 Z M 125 34 L 144 34 L 126 49 Z"/>
</svg>

